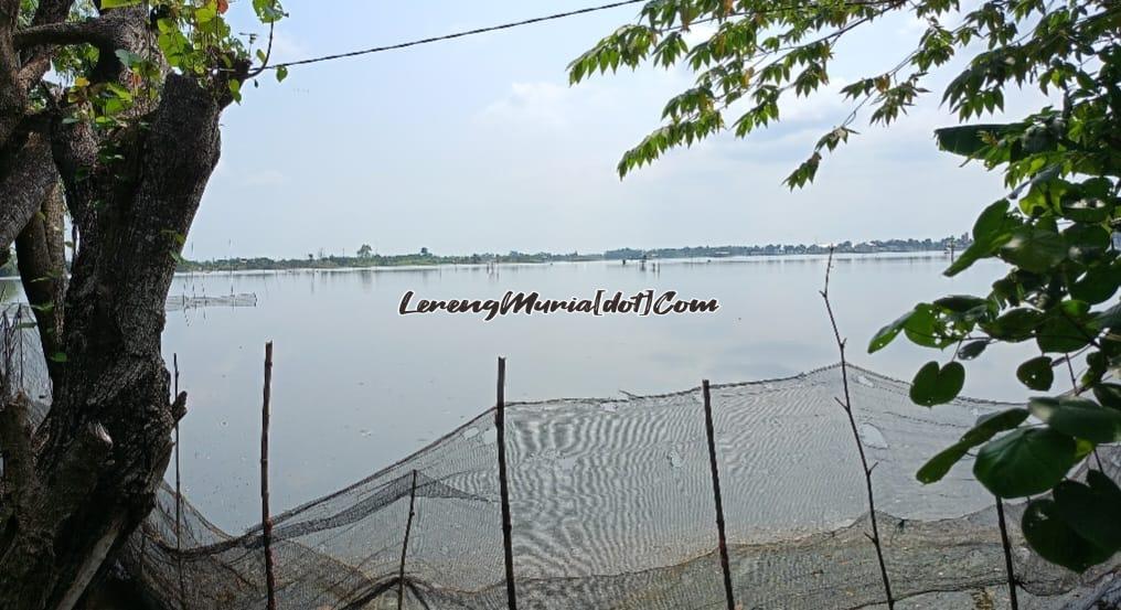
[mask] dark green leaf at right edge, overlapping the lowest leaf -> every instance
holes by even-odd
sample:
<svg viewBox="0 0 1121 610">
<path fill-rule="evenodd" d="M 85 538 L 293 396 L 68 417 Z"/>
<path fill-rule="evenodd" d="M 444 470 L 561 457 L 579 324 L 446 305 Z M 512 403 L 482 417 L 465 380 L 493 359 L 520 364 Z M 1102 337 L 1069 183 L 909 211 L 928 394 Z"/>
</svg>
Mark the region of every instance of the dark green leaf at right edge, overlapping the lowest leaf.
<svg viewBox="0 0 1121 610">
<path fill-rule="evenodd" d="M 1063 481 L 1051 495 L 1055 512 L 1077 535 L 1115 553 L 1121 549 L 1121 489 L 1101 471 L 1086 473 L 1086 483 Z"/>
</svg>

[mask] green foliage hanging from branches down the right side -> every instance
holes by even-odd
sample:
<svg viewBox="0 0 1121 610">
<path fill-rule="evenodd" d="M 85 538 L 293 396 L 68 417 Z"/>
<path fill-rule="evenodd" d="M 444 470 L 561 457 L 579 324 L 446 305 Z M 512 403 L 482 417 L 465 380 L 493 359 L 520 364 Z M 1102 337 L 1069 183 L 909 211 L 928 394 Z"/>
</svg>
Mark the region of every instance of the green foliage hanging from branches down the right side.
<svg viewBox="0 0 1121 610">
<path fill-rule="evenodd" d="M 899 119 L 926 93 L 927 73 L 960 53 L 971 57 L 942 100 L 961 121 L 1002 110 L 1008 87 L 1060 98 L 1058 107 L 1015 122 L 935 133 L 943 150 L 1000 170 L 1009 190 L 981 212 L 973 243 L 945 274 L 983 259 L 1009 269 L 986 295 L 918 304 L 881 329 L 869 352 L 900 335 L 925 348 L 953 346 L 948 364 L 929 362 L 915 378 L 911 397 L 926 406 L 952 400 L 965 377 L 957 359 L 980 358 L 993 343 L 1035 345 L 1038 355 L 1016 370 L 1035 391 L 1057 391 L 1053 366 L 1081 369 L 1071 373 L 1077 377 L 1075 396 L 1032 398 L 1038 420 L 1016 409 L 979 422 L 924 465 L 918 479 L 942 479 L 979 447 L 974 474 L 994 495 L 1054 491 L 1030 502 L 1025 535 L 1041 556 L 1082 571 L 1121 551 L 1121 493 L 1097 470 L 1090 470 L 1086 483 L 1066 479 L 1097 445 L 1121 442 L 1121 385 L 1110 381 L 1121 369 L 1121 303 L 1113 301 L 1121 258 L 1112 240 L 1121 228 L 1121 9 L 1103 0 L 971 7 L 946 0 L 651 0 L 638 24 L 577 57 L 569 76 L 576 83 L 645 62 L 694 71 L 695 86 L 667 103 L 665 124 L 623 155 L 624 176 L 670 148 L 725 130 L 743 138 L 778 121 L 791 95 L 812 95 L 828 84 L 837 41 L 853 29 L 890 11 L 925 24 L 911 53 L 841 90 L 853 110 L 787 177 L 791 188 L 813 182 L 824 155 L 856 133 L 851 126 L 861 112 L 872 124 Z M 700 22 L 714 24 L 714 34 L 686 44 L 680 34 Z"/>
</svg>

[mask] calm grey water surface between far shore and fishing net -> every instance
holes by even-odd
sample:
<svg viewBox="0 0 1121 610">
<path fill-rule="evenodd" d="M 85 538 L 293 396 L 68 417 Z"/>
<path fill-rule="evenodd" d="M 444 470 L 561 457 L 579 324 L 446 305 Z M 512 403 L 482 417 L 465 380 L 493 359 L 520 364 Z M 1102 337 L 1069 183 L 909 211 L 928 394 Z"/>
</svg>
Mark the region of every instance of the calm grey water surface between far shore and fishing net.
<svg viewBox="0 0 1121 610">
<path fill-rule="evenodd" d="M 874 355 L 871 335 L 918 301 L 986 294 L 1002 266 L 955 278 L 941 255 L 840 258 L 831 297 L 850 359 L 909 379 L 948 359 L 899 340 Z M 211 274 L 176 278 L 173 295 L 253 293 L 256 307 L 168 314 L 165 354 L 189 392 L 183 422 L 188 498 L 222 527 L 254 523 L 263 343 L 275 342 L 271 465 L 277 510 L 361 479 L 493 404 L 495 357 L 508 358 L 508 400 L 656 394 L 784 377 L 836 361 L 818 290 L 821 257 L 354 271 Z M 717 298 L 714 314 L 637 317 L 552 314 L 399 316 L 416 298 L 592 297 L 597 289 L 676 290 Z M 1022 399 L 1016 364 L 1028 348 L 969 363 L 965 392 Z M 856 406 L 859 408 L 859 405 Z M 920 408 L 920 407 L 915 407 Z M 876 431 L 865 434 L 874 436 Z"/>
</svg>

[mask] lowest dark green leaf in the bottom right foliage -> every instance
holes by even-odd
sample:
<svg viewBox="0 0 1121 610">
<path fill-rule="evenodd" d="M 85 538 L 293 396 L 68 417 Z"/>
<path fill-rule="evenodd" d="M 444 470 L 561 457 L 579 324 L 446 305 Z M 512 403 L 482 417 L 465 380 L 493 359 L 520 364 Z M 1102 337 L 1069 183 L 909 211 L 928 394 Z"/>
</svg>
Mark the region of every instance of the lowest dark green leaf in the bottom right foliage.
<svg viewBox="0 0 1121 610">
<path fill-rule="evenodd" d="M 1023 537 L 1043 558 L 1075 572 L 1109 560 L 1111 551 L 1083 538 L 1063 519 L 1050 499 L 1032 500 L 1020 521 Z"/>
</svg>

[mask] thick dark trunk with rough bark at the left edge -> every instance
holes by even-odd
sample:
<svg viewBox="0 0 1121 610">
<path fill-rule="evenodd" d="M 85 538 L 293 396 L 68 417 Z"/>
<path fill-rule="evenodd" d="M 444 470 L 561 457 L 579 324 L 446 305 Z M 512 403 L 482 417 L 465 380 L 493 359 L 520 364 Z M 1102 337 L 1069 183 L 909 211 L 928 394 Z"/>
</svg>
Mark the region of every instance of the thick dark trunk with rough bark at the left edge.
<svg viewBox="0 0 1121 610">
<path fill-rule="evenodd" d="M 9 397 L 0 410 L 9 464 L 3 490 L 12 499 L 0 508 L 0 608 L 74 608 L 154 506 L 186 401 L 185 395 L 169 399 L 160 355 L 164 303 L 174 255 L 217 163 L 225 103 L 169 74 L 150 127 L 138 130 L 133 150 L 110 168 L 112 188 L 96 175 L 66 170 L 83 165 L 91 150 L 78 128 L 55 126 L 55 156 L 82 248 L 65 324 L 39 315 L 45 345 L 62 348 L 52 364 L 46 420 L 31 433 L 21 397 Z M 57 251 L 52 222 L 41 215 L 21 232 L 21 270 Z M 29 271 L 21 275 L 33 302 L 58 294 Z M 49 335 L 59 326 L 61 341 Z"/>
</svg>

